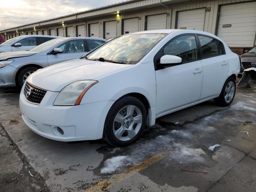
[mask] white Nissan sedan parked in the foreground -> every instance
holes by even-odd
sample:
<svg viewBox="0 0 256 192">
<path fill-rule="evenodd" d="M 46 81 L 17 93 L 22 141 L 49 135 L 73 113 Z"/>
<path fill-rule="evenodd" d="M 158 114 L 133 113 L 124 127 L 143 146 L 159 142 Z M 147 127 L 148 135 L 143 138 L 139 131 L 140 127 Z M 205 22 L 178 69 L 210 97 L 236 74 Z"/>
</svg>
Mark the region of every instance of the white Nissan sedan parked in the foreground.
<svg viewBox="0 0 256 192">
<path fill-rule="evenodd" d="M 240 60 L 196 30 L 127 34 L 86 56 L 40 69 L 20 94 L 28 127 L 58 141 L 135 142 L 156 118 L 214 99 L 228 106 Z"/>
</svg>

